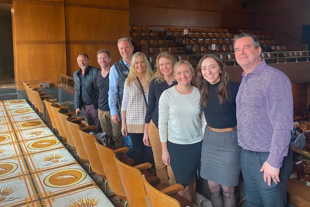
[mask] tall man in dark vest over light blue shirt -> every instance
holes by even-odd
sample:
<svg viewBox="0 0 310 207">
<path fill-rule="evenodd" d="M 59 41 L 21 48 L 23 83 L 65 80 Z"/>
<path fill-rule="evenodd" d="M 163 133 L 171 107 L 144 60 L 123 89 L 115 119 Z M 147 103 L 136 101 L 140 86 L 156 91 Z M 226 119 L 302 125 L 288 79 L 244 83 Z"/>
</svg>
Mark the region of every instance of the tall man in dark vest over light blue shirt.
<svg viewBox="0 0 310 207">
<path fill-rule="evenodd" d="M 117 47 L 121 60 L 116 62 L 110 69 L 109 74 L 109 107 L 111 113 L 111 120 L 121 125 L 121 118 L 118 109 L 122 108 L 123 92 L 125 80 L 129 74 L 131 60 L 133 56 L 134 47 L 129 38 L 121 38 L 117 42 Z M 118 109 L 117 109 L 118 106 Z M 124 137 L 125 146 L 129 148 L 127 155 L 132 157 L 133 146 L 130 136 Z"/>
</svg>

